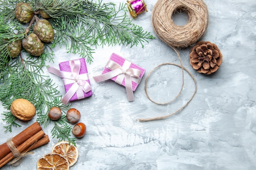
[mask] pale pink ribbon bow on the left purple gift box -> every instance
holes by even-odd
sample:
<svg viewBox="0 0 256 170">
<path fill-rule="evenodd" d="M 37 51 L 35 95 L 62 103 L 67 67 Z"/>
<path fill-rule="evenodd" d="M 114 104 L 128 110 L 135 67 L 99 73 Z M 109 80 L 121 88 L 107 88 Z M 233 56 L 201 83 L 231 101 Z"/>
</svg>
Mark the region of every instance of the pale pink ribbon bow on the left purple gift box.
<svg viewBox="0 0 256 170">
<path fill-rule="evenodd" d="M 81 63 L 80 60 L 71 60 L 70 61 L 71 72 L 59 71 L 54 67 L 49 66 L 47 68 L 48 72 L 58 75 L 63 78 L 64 85 L 72 84 L 67 93 L 63 96 L 61 102 L 67 104 L 70 98 L 76 93 L 78 99 L 84 98 L 83 91 L 85 93 L 92 90 L 90 84 L 86 81 L 89 79 L 88 73 L 79 74 Z"/>
</svg>

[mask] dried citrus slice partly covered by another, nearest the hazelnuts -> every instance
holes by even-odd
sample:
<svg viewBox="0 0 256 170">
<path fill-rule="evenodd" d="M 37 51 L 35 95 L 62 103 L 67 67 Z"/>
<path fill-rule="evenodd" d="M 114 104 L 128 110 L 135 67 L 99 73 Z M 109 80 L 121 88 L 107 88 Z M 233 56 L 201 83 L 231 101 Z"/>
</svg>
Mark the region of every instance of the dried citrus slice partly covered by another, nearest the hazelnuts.
<svg viewBox="0 0 256 170">
<path fill-rule="evenodd" d="M 60 154 L 65 157 L 70 166 L 73 166 L 78 159 L 78 149 L 69 144 L 68 141 L 61 141 L 52 147 L 52 153 Z"/>
</svg>

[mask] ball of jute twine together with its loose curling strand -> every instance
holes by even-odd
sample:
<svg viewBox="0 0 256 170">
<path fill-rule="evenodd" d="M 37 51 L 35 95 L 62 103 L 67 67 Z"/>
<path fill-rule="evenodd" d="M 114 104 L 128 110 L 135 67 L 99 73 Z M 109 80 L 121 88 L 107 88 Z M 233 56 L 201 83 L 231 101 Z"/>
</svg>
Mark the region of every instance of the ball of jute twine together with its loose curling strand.
<svg viewBox="0 0 256 170">
<path fill-rule="evenodd" d="M 173 22 L 172 15 L 177 10 L 185 11 L 189 16 L 189 21 L 184 26 L 177 26 Z M 181 108 L 176 110 L 173 113 L 160 116 L 160 117 L 153 117 L 147 119 L 138 119 L 138 121 L 152 121 L 158 119 L 164 119 L 178 113 L 180 110 L 185 108 L 189 102 L 193 99 L 196 90 L 197 84 L 194 76 L 189 72 L 188 69 L 184 68 L 182 64 L 182 60 L 180 58 L 180 54 L 177 51 L 177 48 L 186 48 L 197 42 L 207 30 L 208 26 L 208 10 L 206 4 L 203 0 L 158 0 L 154 6 L 152 11 L 152 24 L 153 29 L 157 36 L 165 42 L 168 46 L 170 46 L 175 53 L 177 54 L 180 65 L 174 63 L 163 63 L 155 68 L 148 74 L 145 81 L 145 92 L 150 99 L 151 102 L 159 105 L 170 104 L 174 100 L 176 100 L 182 93 L 182 89 L 184 86 L 184 70 L 191 76 L 193 82 L 195 84 L 195 89 L 193 94 L 191 95 L 190 99 L 184 104 Z M 182 87 L 180 92 L 173 100 L 165 103 L 155 102 L 153 99 L 150 98 L 147 91 L 147 82 L 150 75 L 160 66 L 163 65 L 174 65 L 182 68 Z"/>
</svg>

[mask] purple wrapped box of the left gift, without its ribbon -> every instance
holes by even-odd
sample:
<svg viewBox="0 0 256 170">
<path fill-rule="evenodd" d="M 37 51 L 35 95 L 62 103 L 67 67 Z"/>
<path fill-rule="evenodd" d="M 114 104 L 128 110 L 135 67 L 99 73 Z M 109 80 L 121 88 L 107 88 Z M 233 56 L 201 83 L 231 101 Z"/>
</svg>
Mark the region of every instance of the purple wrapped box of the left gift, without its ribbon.
<svg viewBox="0 0 256 170">
<path fill-rule="evenodd" d="M 80 63 L 81 63 L 81 68 L 80 68 L 80 71 L 79 71 L 79 75 L 88 73 L 87 67 L 86 67 L 85 59 L 84 59 L 84 58 L 80 58 L 79 61 L 80 61 Z M 59 63 L 59 67 L 60 67 L 60 70 L 61 70 L 61 71 L 71 72 L 70 61 L 60 62 L 60 63 Z M 87 82 L 90 84 L 90 80 L 89 80 L 89 79 L 87 79 L 87 80 L 85 80 L 85 81 L 87 81 Z M 71 84 L 65 84 L 65 85 L 64 85 L 64 88 L 65 88 L 66 93 L 67 93 L 67 91 L 71 88 L 72 85 L 73 85 L 73 83 L 71 83 Z M 90 96 L 92 96 L 92 91 L 88 91 L 87 93 L 85 93 L 85 92 L 83 91 L 83 96 L 84 96 L 84 98 L 85 98 L 85 97 L 90 97 Z M 74 101 L 74 100 L 77 100 L 77 99 L 78 99 L 78 97 L 77 97 L 77 95 L 76 95 L 76 93 L 75 93 L 75 94 L 71 97 L 70 101 Z"/>
</svg>

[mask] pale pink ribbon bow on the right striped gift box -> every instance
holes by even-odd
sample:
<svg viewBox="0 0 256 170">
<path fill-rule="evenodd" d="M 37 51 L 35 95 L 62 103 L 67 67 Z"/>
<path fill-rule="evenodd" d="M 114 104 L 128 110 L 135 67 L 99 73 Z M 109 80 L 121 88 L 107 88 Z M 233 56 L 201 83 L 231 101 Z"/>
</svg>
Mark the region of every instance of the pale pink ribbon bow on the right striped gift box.
<svg viewBox="0 0 256 170">
<path fill-rule="evenodd" d="M 117 76 L 117 79 L 115 80 L 115 82 L 117 82 L 118 84 L 121 84 L 125 79 L 125 87 L 126 87 L 128 100 L 132 101 L 134 100 L 133 91 L 132 91 L 132 81 L 139 84 L 141 80 L 139 78 L 141 71 L 136 68 L 129 68 L 130 64 L 131 62 L 129 62 L 128 60 L 125 60 L 123 66 L 120 66 L 116 62 L 109 60 L 108 63 L 106 64 L 106 68 L 109 68 L 111 71 L 102 75 L 95 76 L 93 78 L 96 82 L 102 82 Z"/>
</svg>

